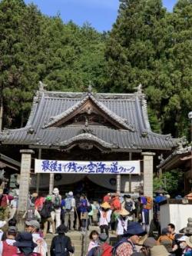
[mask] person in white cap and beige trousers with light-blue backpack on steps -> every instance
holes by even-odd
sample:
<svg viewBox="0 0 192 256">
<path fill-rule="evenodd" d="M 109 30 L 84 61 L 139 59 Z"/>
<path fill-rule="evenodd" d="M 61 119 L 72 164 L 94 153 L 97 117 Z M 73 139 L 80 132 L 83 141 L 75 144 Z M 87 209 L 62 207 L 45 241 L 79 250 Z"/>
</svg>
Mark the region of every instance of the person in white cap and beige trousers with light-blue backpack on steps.
<svg viewBox="0 0 192 256">
<path fill-rule="evenodd" d="M 74 210 L 75 210 L 75 199 L 73 192 L 68 192 L 68 197 L 65 198 L 65 215 L 64 223 L 66 227 L 69 227 L 70 231 L 74 231 Z"/>
</svg>

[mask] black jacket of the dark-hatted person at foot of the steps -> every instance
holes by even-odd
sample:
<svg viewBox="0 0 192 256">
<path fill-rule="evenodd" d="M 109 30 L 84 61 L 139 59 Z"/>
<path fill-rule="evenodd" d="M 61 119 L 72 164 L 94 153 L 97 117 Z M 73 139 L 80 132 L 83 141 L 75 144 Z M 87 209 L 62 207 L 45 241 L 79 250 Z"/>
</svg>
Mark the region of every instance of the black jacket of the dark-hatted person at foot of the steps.
<svg viewBox="0 0 192 256">
<path fill-rule="evenodd" d="M 61 254 L 66 256 L 69 256 L 69 252 L 74 253 L 74 247 L 71 245 L 71 239 L 68 236 L 65 236 L 65 234 L 58 234 L 51 241 L 51 256 L 59 255 L 59 251 L 66 251 L 65 254 Z"/>
</svg>

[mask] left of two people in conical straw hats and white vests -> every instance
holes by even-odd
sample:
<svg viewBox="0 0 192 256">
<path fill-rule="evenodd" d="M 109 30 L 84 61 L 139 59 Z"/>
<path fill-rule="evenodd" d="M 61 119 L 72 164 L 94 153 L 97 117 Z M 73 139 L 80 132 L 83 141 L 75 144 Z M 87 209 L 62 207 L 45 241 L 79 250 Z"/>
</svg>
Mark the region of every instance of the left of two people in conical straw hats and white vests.
<svg viewBox="0 0 192 256">
<path fill-rule="evenodd" d="M 99 209 L 99 227 L 101 229 L 101 233 L 105 232 L 108 235 L 111 213 L 111 205 L 108 202 L 101 204 L 101 208 Z"/>
</svg>

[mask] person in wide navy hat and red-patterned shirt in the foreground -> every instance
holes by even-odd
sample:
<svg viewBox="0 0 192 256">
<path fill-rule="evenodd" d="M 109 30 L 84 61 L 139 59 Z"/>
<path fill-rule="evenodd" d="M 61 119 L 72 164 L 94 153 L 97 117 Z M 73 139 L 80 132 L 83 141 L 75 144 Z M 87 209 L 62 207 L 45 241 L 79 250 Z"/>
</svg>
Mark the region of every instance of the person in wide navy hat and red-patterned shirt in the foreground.
<svg viewBox="0 0 192 256">
<path fill-rule="evenodd" d="M 114 255 L 131 256 L 134 252 L 137 252 L 135 245 L 139 243 L 140 237 L 144 234 L 147 233 L 143 230 L 141 224 L 138 222 L 129 223 L 124 238 L 121 238 L 121 241 L 114 245 Z"/>
</svg>

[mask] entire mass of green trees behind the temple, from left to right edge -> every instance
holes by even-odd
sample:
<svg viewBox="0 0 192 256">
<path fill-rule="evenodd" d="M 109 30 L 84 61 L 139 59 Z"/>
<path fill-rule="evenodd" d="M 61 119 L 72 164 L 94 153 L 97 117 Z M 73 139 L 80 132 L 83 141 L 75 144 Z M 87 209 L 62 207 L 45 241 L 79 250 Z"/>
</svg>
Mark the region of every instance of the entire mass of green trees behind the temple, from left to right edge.
<svg viewBox="0 0 192 256">
<path fill-rule="evenodd" d="M 110 33 L 65 24 L 23 0 L 0 1 L 0 101 L 4 127 L 28 119 L 44 81 L 48 90 L 133 92 L 147 95 L 154 131 L 187 135 L 192 105 L 192 2 L 167 12 L 161 0 L 120 0 Z"/>
</svg>

